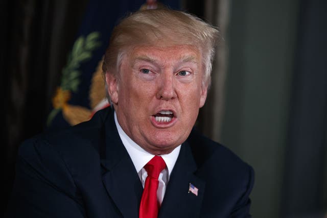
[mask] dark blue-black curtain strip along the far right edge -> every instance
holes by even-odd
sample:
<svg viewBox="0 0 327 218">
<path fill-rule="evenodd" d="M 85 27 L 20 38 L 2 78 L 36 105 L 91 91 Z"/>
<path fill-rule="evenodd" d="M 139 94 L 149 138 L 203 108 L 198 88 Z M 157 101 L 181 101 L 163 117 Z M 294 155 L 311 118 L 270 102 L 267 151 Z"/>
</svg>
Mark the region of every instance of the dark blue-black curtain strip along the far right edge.
<svg viewBox="0 0 327 218">
<path fill-rule="evenodd" d="M 325 217 L 327 2 L 300 1 L 281 217 Z"/>
</svg>

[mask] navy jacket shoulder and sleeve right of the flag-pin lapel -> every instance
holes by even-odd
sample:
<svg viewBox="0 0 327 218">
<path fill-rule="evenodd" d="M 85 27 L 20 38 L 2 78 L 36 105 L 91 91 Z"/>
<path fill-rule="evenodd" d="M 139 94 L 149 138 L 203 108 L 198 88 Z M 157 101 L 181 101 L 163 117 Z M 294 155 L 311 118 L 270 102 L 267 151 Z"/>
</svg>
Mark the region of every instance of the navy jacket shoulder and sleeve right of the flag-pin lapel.
<svg viewBox="0 0 327 218">
<path fill-rule="evenodd" d="M 205 181 L 205 190 L 208 190 L 203 211 L 216 208 L 225 211 L 226 216 L 242 214 L 242 217 L 248 217 L 253 168 L 222 144 L 195 131 L 192 131 L 189 143 L 198 165 L 196 175 Z"/>
</svg>

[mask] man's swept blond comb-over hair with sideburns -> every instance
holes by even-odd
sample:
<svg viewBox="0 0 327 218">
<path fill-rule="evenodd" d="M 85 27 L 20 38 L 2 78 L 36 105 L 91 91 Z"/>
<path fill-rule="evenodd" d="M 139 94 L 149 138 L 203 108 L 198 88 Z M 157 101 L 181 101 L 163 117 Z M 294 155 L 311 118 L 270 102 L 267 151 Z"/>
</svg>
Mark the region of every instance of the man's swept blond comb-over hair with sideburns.
<svg viewBox="0 0 327 218">
<path fill-rule="evenodd" d="M 202 53 L 202 85 L 211 83 L 212 61 L 219 31 L 200 18 L 171 9 L 140 10 L 122 19 L 111 34 L 103 72 L 119 73 L 124 52 L 137 45 L 194 45 Z"/>
</svg>

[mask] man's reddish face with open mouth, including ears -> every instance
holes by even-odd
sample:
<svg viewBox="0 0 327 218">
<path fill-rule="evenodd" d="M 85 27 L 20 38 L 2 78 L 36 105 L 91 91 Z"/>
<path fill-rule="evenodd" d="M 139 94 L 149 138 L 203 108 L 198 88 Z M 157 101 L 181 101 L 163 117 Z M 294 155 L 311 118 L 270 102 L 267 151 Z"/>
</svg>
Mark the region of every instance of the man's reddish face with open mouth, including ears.
<svg viewBox="0 0 327 218">
<path fill-rule="evenodd" d="M 136 46 L 108 91 L 126 134 L 152 154 L 167 154 L 189 136 L 203 106 L 202 56 L 191 45 Z"/>
</svg>

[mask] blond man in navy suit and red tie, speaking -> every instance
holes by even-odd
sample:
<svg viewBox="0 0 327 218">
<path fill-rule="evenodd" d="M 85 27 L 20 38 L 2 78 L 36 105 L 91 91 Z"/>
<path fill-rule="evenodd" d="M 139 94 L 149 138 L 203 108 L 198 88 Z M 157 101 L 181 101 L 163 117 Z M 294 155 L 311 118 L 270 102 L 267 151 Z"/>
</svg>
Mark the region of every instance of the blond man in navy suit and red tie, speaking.
<svg viewBox="0 0 327 218">
<path fill-rule="evenodd" d="M 103 63 L 113 108 L 22 144 L 9 216 L 249 217 L 252 168 L 193 130 L 217 38 L 179 11 L 123 19 Z"/>
</svg>

